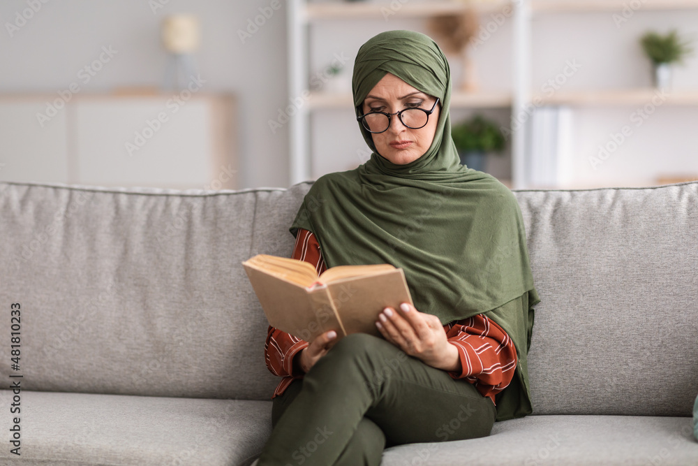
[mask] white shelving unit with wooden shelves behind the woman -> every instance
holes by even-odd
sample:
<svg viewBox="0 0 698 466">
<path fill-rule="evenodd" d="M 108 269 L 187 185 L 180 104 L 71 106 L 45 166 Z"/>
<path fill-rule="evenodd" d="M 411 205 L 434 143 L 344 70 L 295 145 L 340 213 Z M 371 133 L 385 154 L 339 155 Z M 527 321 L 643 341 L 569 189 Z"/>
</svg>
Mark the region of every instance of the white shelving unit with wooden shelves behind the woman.
<svg viewBox="0 0 698 466">
<path fill-rule="evenodd" d="M 655 89 L 614 89 L 560 91 L 552 96 L 533 92 L 531 87 L 532 31 L 535 17 L 551 13 L 614 13 L 622 12 L 626 2 L 621 0 L 517 0 L 517 1 L 429 1 L 401 3 L 400 8 L 391 10 L 391 20 L 420 19 L 445 13 L 457 13 L 464 8 L 477 8 L 480 15 L 502 12 L 512 8 L 512 86 L 509 92 L 477 92 L 452 94 L 452 110 L 458 108 L 503 108 L 512 115 L 512 180 L 503 180 L 515 189 L 530 187 L 526 166 L 529 156 L 530 122 L 513 124 L 514 115 L 530 108 L 534 101 L 542 105 L 583 106 L 628 106 L 643 105 L 652 98 Z M 305 104 L 297 115 L 290 119 L 290 182 L 311 178 L 311 151 L 309 140 L 312 131 L 310 116 L 314 112 L 352 108 L 349 94 L 330 94 L 309 91 L 309 29 L 313 24 L 328 20 L 376 20 L 382 19 L 390 3 L 373 1 L 341 1 L 307 3 L 304 0 L 288 0 L 288 92 L 290 96 L 304 96 Z M 658 10 L 696 10 L 698 0 L 646 0 L 634 13 L 643 14 Z M 487 16 L 486 16 L 487 17 Z M 698 106 L 698 89 L 695 91 L 672 92 L 668 105 Z"/>
</svg>

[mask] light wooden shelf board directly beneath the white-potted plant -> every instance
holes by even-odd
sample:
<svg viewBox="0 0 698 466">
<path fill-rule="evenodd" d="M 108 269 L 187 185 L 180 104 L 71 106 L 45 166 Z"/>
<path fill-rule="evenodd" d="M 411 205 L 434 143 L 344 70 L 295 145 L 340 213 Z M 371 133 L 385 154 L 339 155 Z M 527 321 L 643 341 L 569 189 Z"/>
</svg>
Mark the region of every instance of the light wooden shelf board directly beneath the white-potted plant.
<svg viewBox="0 0 698 466">
<path fill-rule="evenodd" d="M 534 95 L 544 105 L 645 105 L 657 98 L 667 105 L 698 105 L 698 90 L 674 91 L 662 95 L 658 89 L 604 89 L 598 91 L 556 92 L 552 96 Z"/>
</svg>

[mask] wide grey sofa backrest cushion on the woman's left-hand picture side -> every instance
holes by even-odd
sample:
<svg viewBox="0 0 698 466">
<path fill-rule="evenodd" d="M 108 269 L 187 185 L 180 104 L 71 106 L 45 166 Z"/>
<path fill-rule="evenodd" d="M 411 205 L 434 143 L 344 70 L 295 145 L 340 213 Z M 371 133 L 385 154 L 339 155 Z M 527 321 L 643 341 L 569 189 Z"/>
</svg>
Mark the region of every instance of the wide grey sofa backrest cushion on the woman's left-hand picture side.
<svg viewBox="0 0 698 466">
<path fill-rule="evenodd" d="M 27 390 L 270 400 L 267 321 L 241 262 L 290 256 L 309 184 L 168 191 L 0 183 L 0 302 Z"/>
</svg>

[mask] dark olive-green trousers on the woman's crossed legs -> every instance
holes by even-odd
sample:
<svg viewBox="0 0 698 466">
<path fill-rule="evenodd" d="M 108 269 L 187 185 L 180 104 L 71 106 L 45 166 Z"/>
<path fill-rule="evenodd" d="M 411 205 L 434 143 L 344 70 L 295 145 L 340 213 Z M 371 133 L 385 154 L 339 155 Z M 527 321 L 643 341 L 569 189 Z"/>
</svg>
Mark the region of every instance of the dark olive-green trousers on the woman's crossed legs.
<svg viewBox="0 0 698 466">
<path fill-rule="evenodd" d="M 274 398 L 258 466 L 378 466 L 388 446 L 485 437 L 495 418 L 468 381 L 352 334 Z"/>
</svg>

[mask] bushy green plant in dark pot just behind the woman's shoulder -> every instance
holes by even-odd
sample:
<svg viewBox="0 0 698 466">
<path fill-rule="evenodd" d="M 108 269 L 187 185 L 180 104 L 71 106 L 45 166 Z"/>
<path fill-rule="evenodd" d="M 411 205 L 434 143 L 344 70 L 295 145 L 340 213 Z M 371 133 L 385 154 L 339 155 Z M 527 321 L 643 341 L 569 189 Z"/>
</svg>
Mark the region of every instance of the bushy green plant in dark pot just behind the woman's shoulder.
<svg viewBox="0 0 698 466">
<path fill-rule="evenodd" d="M 501 152 L 506 144 L 497 124 L 482 115 L 454 124 L 451 137 L 461 164 L 478 171 L 484 171 L 484 157 L 488 152 Z"/>
</svg>

